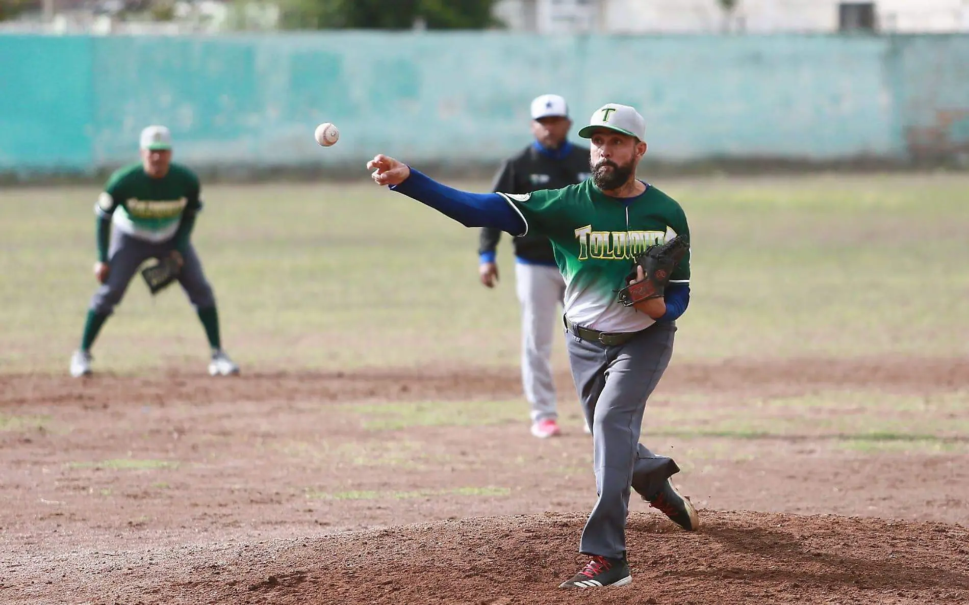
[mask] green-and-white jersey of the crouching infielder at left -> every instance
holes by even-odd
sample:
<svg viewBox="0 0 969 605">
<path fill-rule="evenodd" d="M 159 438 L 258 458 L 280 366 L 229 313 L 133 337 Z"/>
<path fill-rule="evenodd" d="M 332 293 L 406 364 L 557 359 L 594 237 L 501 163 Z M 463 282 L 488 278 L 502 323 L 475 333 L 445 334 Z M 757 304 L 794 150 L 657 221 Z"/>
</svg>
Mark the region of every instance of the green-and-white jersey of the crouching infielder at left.
<svg viewBox="0 0 969 605">
<path fill-rule="evenodd" d="M 202 209 L 202 186 L 195 172 L 172 164 L 162 178 L 152 178 L 141 164 L 125 166 L 108 180 L 95 212 L 112 216 L 115 228 L 149 242 L 172 238 L 185 210 Z"/>
</svg>

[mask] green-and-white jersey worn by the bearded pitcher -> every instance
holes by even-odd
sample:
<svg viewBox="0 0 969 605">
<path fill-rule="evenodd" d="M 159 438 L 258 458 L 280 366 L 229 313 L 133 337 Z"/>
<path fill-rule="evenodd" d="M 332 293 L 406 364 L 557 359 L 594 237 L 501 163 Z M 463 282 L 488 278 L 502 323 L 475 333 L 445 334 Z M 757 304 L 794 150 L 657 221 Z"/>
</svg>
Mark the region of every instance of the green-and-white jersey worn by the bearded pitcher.
<svg viewBox="0 0 969 605">
<path fill-rule="evenodd" d="M 624 307 L 616 290 L 633 258 L 646 246 L 676 235 L 689 236 L 683 209 L 652 186 L 637 197 L 609 197 L 591 179 L 562 189 L 532 194 L 501 194 L 525 220 L 529 231 L 551 240 L 565 278 L 565 315 L 602 332 L 635 332 L 654 320 Z M 690 255 L 673 271 L 671 283 L 690 282 Z"/>
</svg>

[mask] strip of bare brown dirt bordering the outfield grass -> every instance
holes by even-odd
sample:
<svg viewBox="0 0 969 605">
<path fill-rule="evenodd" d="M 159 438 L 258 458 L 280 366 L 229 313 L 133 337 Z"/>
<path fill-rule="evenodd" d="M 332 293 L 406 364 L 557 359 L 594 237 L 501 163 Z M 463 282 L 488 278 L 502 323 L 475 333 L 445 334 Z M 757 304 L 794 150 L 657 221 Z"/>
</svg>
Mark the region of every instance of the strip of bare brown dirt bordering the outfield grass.
<svg viewBox="0 0 969 605">
<path fill-rule="evenodd" d="M 571 389 L 560 374 L 557 386 Z M 969 360 L 871 358 L 855 360 L 783 359 L 673 364 L 661 390 L 747 391 L 797 394 L 830 387 L 869 387 L 938 392 L 969 384 Z M 516 371 L 482 368 L 420 368 L 340 372 L 246 373 L 212 380 L 198 371 L 169 370 L 153 377 L 97 375 L 78 381 L 64 375 L 2 375 L 0 404 L 111 404 L 132 399 L 192 404 L 231 401 L 319 402 L 378 400 L 453 401 L 520 397 Z M 568 390 L 565 391 L 569 393 Z M 571 393 L 569 393 L 571 394 Z"/>
</svg>

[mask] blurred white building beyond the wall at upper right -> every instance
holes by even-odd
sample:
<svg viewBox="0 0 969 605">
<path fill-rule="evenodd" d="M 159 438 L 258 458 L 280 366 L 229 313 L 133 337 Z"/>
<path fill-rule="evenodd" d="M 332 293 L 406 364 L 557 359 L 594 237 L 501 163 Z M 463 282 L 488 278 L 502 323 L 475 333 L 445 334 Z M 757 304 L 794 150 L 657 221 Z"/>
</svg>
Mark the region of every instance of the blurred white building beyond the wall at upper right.
<svg viewBox="0 0 969 605">
<path fill-rule="evenodd" d="M 969 32 L 969 0 L 502 0 L 495 14 L 539 33 Z M 866 27 L 867 26 L 867 27 Z"/>
</svg>

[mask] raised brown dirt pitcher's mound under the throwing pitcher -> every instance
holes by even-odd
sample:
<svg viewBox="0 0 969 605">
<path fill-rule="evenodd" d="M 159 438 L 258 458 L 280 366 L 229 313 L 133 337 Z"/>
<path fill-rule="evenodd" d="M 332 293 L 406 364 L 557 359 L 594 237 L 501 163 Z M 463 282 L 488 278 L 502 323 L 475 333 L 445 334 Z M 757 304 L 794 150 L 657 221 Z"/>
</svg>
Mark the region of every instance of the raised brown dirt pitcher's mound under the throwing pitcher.
<svg viewBox="0 0 969 605">
<path fill-rule="evenodd" d="M 24 577 L 15 572 L 0 592 L 15 603 L 190 605 L 969 602 L 969 532 L 961 526 L 716 511 L 702 512 L 695 533 L 658 513 L 633 514 L 633 584 L 559 590 L 585 562 L 577 553 L 584 521 L 547 513 L 72 553 L 52 564 L 52 582 L 17 586 Z"/>
</svg>

